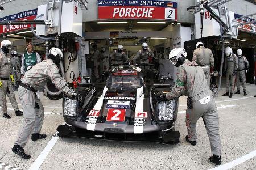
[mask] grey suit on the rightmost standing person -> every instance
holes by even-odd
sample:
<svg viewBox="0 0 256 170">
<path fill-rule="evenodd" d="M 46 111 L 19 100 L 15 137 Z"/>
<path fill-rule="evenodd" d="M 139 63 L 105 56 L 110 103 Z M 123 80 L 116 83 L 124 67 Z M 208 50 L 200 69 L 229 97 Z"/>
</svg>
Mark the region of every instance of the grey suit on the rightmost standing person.
<svg viewBox="0 0 256 170">
<path fill-rule="evenodd" d="M 245 67 L 246 66 L 246 67 Z M 247 61 L 245 56 L 238 56 L 238 69 L 237 69 L 237 90 L 240 90 L 240 78 L 242 82 L 243 91 L 246 91 L 246 77 L 245 71 L 249 69 L 249 62 Z"/>
</svg>

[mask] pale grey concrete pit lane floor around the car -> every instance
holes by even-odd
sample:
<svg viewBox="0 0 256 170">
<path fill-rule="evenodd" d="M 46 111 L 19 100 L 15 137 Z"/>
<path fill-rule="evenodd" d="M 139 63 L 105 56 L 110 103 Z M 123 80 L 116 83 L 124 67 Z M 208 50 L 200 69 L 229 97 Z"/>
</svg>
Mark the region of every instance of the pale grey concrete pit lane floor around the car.
<svg viewBox="0 0 256 170">
<path fill-rule="evenodd" d="M 222 166 L 219 169 L 256 169 L 256 86 L 247 84 L 247 93 L 234 95 L 232 99 L 216 98 L 220 117 Z M 16 94 L 16 92 L 15 92 Z M 17 95 L 17 94 L 16 94 Z M 210 143 L 203 120 L 197 122 L 197 145 L 184 139 L 185 97 L 179 99 L 179 115 L 176 130 L 181 138 L 178 145 L 159 143 L 115 142 L 84 138 L 52 137 L 63 124 L 61 100 L 49 100 L 42 94 L 45 108 L 42 133 L 47 138 L 28 141 L 24 148 L 31 159 L 24 160 L 11 151 L 23 118 L 16 117 L 7 101 L 11 118 L 0 117 L 0 169 L 211 169 Z M 18 96 L 16 96 L 18 99 Z M 19 103 L 19 101 L 18 101 Z M 20 107 L 20 105 L 19 105 Z M 20 107 L 21 108 L 21 107 Z M 246 155 L 246 156 L 245 156 Z M 243 156 L 243 157 L 242 157 Z M 233 162 L 232 162 L 233 161 Z"/>
</svg>

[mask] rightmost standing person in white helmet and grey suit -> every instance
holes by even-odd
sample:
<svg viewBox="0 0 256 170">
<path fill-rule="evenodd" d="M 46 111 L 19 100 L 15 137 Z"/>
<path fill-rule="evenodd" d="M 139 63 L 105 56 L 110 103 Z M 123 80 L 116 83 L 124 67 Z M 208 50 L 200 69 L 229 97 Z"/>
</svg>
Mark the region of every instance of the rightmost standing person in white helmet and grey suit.
<svg viewBox="0 0 256 170">
<path fill-rule="evenodd" d="M 236 80 L 237 80 L 237 92 L 235 94 L 240 94 L 240 78 L 242 81 L 242 87 L 243 87 L 243 94 L 247 96 L 246 93 L 246 77 L 245 73 L 249 70 L 249 62 L 247 61 L 245 56 L 242 56 L 242 50 L 238 49 L 237 50 L 237 56 L 238 56 L 238 72 L 236 75 Z"/>
</svg>

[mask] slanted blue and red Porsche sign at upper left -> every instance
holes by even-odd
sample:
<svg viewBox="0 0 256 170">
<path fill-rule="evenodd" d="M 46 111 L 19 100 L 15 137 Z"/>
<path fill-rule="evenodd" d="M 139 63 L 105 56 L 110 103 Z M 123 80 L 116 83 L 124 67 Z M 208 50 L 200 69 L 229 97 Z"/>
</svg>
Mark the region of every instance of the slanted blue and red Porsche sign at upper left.
<svg viewBox="0 0 256 170">
<path fill-rule="evenodd" d="M 34 20 L 37 15 L 37 9 L 19 12 L 18 14 L 13 14 L 0 18 L 0 22 L 14 21 L 14 20 Z M 35 25 L 34 25 L 35 27 Z M 0 25 L 0 34 L 6 34 L 14 31 L 19 31 L 22 29 L 31 28 L 31 25 Z"/>
</svg>

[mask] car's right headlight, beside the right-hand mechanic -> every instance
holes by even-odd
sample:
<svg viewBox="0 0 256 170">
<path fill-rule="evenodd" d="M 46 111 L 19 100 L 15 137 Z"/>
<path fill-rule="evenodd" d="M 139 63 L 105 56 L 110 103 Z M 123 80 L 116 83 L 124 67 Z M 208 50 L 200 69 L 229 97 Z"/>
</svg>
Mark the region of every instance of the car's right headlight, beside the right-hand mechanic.
<svg viewBox="0 0 256 170">
<path fill-rule="evenodd" d="M 171 121 L 174 119 L 174 112 L 176 108 L 175 100 L 169 100 L 166 102 L 160 102 L 158 104 L 158 120 L 159 121 Z"/>
</svg>

